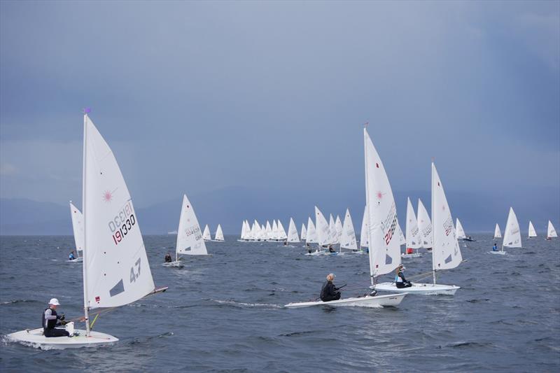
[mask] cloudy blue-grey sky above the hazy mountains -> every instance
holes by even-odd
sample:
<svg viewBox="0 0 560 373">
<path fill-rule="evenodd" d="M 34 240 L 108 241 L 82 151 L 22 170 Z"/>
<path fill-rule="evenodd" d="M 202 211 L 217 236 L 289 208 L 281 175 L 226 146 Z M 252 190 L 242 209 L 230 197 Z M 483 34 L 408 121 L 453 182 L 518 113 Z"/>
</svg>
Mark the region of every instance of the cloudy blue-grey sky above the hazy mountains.
<svg viewBox="0 0 560 373">
<path fill-rule="evenodd" d="M 433 157 L 448 195 L 560 219 L 559 1 L 1 1 L 1 198 L 81 200 L 85 107 L 137 207 L 344 205 L 369 122 L 395 193 Z"/>
</svg>

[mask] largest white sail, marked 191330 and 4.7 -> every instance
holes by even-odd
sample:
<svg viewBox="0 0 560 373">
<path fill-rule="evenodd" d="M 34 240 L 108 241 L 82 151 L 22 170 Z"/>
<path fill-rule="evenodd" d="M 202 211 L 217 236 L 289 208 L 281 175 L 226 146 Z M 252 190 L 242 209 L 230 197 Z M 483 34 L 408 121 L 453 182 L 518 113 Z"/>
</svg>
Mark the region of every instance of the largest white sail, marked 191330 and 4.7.
<svg viewBox="0 0 560 373">
<path fill-rule="evenodd" d="M 84 300 L 118 307 L 155 290 L 138 216 L 117 161 L 84 115 Z"/>
</svg>

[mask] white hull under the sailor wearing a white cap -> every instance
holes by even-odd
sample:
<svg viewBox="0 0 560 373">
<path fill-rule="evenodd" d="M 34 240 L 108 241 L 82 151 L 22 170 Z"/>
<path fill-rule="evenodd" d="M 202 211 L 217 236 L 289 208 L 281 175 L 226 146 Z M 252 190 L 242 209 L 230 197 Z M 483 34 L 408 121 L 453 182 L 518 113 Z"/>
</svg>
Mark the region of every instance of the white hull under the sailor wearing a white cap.
<svg viewBox="0 0 560 373">
<path fill-rule="evenodd" d="M 80 347 L 103 346 L 113 344 L 118 338 L 100 332 L 91 332 L 90 337 L 85 337 L 85 330 L 76 330 L 80 335 L 76 337 L 45 337 L 43 328 L 21 330 L 7 335 L 12 342 L 25 344 L 43 350 L 78 349 Z"/>
</svg>

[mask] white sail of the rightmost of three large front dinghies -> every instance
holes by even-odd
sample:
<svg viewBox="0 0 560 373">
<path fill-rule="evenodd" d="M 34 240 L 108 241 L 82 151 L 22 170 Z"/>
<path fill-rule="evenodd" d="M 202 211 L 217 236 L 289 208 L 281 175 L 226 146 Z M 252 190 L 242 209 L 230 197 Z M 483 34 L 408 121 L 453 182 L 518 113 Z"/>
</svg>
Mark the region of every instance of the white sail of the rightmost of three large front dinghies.
<svg viewBox="0 0 560 373">
<path fill-rule="evenodd" d="M 463 257 L 455 234 L 453 218 L 440 176 L 432 162 L 432 266 L 434 271 L 451 269 L 461 264 Z"/>
</svg>

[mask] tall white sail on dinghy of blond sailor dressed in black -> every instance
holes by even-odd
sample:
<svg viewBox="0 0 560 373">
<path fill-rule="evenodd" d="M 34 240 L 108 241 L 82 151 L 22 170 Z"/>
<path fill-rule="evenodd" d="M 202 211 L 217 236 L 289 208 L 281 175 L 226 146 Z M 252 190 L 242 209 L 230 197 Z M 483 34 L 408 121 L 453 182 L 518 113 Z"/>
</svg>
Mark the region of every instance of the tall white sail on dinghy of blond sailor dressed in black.
<svg viewBox="0 0 560 373">
<path fill-rule="evenodd" d="M 363 129 L 365 147 L 365 195 L 368 237 L 370 237 L 370 275 L 387 274 L 400 265 L 397 209 L 383 162 Z"/>
</svg>

